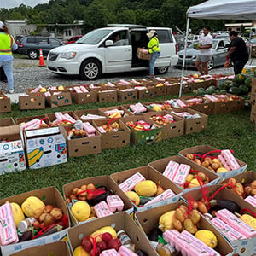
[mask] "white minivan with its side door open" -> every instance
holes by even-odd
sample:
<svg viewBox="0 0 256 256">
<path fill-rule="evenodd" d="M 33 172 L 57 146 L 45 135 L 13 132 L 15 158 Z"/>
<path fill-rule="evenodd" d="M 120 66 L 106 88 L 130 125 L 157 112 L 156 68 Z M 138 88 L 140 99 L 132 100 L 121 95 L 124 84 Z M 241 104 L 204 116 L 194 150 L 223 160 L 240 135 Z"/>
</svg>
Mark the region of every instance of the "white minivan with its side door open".
<svg viewBox="0 0 256 256">
<path fill-rule="evenodd" d="M 177 45 L 172 29 L 167 27 L 109 26 L 88 32 L 75 44 L 49 51 L 47 66 L 58 74 L 80 75 L 98 79 L 102 73 L 131 72 L 148 69 L 148 61 L 138 59 L 137 48 L 147 48 L 147 33 L 158 33 L 161 55 L 155 62 L 157 73 L 166 73 L 177 65 Z M 118 41 L 116 41 L 118 38 Z"/>
</svg>

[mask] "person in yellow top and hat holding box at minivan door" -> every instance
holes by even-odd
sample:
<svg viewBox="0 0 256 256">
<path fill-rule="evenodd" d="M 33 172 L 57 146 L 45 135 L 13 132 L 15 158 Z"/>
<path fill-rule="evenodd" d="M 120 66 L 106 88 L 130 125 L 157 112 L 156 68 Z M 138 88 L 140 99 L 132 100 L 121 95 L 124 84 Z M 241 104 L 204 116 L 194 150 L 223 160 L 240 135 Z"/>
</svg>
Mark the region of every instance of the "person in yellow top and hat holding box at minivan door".
<svg viewBox="0 0 256 256">
<path fill-rule="evenodd" d="M 157 58 L 160 57 L 160 47 L 159 40 L 157 38 L 157 32 L 155 30 L 151 30 L 147 33 L 148 38 L 150 39 L 148 42 L 148 53 L 152 54 L 151 59 L 149 61 L 149 75 L 154 77 L 154 63 Z"/>
</svg>

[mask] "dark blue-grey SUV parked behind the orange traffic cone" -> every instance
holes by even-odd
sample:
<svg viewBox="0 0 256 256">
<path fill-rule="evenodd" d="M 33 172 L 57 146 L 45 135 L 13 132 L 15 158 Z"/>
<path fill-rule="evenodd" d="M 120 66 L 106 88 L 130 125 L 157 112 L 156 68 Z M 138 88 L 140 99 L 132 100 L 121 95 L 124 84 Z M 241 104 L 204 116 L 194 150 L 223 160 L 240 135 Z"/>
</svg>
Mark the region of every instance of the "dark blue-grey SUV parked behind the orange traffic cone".
<svg viewBox="0 0 256 256">
<path fill-rule="evenodd" d="M 64 45 L 61 40 L 53 37 L 26 36 L 21 39 L 19 53 L 28 55 L 30 59 L 38 59 L 40 49 L 43 55 L 48 55 L 49 50 Z"/>
</svg>

